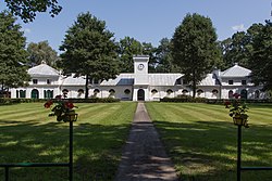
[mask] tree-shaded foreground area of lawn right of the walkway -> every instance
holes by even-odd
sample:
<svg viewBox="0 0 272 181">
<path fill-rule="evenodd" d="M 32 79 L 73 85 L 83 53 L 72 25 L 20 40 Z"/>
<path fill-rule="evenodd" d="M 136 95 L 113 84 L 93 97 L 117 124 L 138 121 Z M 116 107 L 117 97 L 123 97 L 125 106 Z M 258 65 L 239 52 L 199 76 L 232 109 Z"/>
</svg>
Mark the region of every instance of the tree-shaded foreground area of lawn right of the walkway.
<svg viewBox="0 0 272 181">
<path fill-rule="evenodd" d="M 237 127 L 225 121 L 156 120 L 181 180 L 236 180 Z M 272 167 L 272 127 L 243 128 L 242 166 Z M 243 171 L 247 181 L 271 180 L 270 171 Z"/>
</svg>

